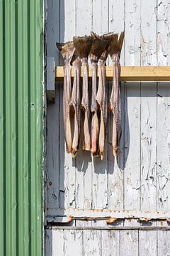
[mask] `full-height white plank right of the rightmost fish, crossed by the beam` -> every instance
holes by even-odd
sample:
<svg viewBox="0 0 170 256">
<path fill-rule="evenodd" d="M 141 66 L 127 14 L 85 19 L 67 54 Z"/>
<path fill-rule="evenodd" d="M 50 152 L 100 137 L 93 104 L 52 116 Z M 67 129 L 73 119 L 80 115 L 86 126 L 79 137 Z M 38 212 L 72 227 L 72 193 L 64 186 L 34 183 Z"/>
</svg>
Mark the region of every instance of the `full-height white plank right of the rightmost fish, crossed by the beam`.
<svg viewBox="0 0 170 256">
<path fill-rule="evenodd" d="M 140 0 L 125 1 L 125 65 L 140 65 Z M 140 83 L 125 83 L 124 207 L 140 209 Z M 135 134 L 135 136 L 134 136 Z M 125 226 L 140 225 L 125 220 Z"/>
</svg>

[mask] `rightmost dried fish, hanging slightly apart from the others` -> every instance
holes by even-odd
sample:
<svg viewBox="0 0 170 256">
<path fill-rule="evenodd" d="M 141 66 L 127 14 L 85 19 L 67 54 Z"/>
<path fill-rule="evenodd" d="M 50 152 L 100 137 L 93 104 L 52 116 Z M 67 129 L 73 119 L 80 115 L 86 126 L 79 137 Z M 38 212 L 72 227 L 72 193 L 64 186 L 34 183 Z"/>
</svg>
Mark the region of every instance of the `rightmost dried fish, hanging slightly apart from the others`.
<svg viewBox="0 0 170 256">
<path fill-rule="evenodd" d="M 120 52 L 123 46 L 124 32 L 112 36 L 109 47 L 109 54 L 113 61 L 113 87 L 111 91 L 110 104 L 108 110 L 113 113 L 113 155 L 119 154 L 119 143 L 121 133 L 121 114 L 120 114 Z"/>
</svg>

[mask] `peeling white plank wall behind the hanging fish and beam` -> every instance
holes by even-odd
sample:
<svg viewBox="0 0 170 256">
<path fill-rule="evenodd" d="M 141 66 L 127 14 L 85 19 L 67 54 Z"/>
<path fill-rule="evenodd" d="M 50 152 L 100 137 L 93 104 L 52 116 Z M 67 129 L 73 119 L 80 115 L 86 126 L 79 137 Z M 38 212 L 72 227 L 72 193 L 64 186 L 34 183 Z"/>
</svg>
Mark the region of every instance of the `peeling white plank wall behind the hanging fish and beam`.
<svg viewBox="0 0 170 256">
<path fill-rule="evenodd" d="M 91 31 L 123 30 L 121 65 L 170 65 L 169 0 L 47 0 L 47 57 L 55 57 L 56 65 L 62 65 L 56 41 L 71 41 L 73 36 Z M 105 159 L 91 159 L 89 152 L 80 150 L 73 160 L 64 149 L 62 83 L 57 83 L 55 103 L 47 104 L 48 222 L 59 220 L 59 215 L 67 219 L 78 210 L 78 215 L 82 211 L 88 215 L 94 209 L 133 210 L 137 214 L 170 210 L 169 84 L 122 83 L 121 95 L 123 135 L 118 162 L 112 154 L 110 115 Z M 72 230 L 47 229 L 47 256 L 170 255 L 166 239 L 170 231 L 94 229 L 107 228 L 106 220 L 74 220 L 69 225 Z M 143 223 L 125 219 L 115 225 L 140 227 Z"/>
</svg>

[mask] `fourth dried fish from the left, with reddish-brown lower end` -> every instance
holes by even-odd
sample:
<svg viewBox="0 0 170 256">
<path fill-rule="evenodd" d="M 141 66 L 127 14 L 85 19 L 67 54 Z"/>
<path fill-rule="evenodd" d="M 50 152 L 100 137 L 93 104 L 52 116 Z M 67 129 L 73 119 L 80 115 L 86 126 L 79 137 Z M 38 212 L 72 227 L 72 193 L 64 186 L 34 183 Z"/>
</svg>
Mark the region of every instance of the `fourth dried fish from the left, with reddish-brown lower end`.
<svg viewBox="0 0 170 256">
<path fill-rule="evenodd" d="M 98 59 L 101 54 L 105 50 L 108 41 L 100 38 L 95 33 L 91 32 L 91 37 L 94 39 L 91 52 L 90 52 L 90 60 L 91 60 L 91 70 L 92 70 L 92 93 L 91 93 L 91 152 L 94 156 L 98 155 L 98 114 L 97 114 L 97 70 L 98 70 Z"/>
</svg>

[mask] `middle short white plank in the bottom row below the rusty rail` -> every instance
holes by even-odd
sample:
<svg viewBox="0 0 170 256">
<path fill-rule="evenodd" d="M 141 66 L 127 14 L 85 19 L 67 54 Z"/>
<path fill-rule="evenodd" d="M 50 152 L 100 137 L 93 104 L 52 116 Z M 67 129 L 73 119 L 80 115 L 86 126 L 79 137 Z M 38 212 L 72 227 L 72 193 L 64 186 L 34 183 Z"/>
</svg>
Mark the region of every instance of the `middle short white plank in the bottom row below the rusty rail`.
<svg viewBox="0 0 170 256">
<path fill-rule="evenodd" d="M 101 231 L 101 255 L 120 255 L 120 230 Z"/>
</svg>

